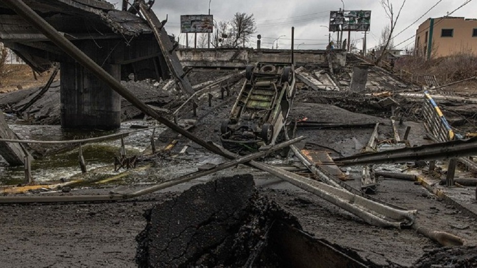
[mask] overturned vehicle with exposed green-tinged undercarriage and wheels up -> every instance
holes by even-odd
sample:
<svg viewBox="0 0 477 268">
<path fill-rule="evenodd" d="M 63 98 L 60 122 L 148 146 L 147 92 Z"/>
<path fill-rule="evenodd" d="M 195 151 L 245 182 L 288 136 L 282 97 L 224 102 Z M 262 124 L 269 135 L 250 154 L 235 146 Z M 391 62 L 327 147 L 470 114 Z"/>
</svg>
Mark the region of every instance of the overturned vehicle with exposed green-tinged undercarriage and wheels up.
<svg viewBox="0 0 477 268">
<path fill-rule="evenodd" d="M 245 76 L 230 117 L 220 125 L 222 145 L 236 153 L 273 146 L 295 95 L 294 66 L 289 63 L 250 65 Z"/>
</svg>

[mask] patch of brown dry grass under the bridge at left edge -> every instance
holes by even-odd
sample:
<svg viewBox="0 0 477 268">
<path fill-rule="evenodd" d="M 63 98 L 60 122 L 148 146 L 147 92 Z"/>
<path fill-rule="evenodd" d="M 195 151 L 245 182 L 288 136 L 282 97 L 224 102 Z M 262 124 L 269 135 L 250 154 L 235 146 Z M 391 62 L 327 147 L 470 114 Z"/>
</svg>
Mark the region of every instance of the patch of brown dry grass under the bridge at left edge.
<svg viewBox="0 0 477 268">
<path fill-rule="evenodd" d="M 48 78 L 50 78 L 50 71 L 45 71 L 41 76 L 37 74 L 38 80 L 35 80 L 32 69 L 24 64 L 5 64 L 3 73 L 4 75 L 1 80 L 0 93 L 6 93 L 18 89 L 41 87 L 45 85 Z M 56 79 L 59 79 L 59 73 L 56 76 Z"/>
</svg>

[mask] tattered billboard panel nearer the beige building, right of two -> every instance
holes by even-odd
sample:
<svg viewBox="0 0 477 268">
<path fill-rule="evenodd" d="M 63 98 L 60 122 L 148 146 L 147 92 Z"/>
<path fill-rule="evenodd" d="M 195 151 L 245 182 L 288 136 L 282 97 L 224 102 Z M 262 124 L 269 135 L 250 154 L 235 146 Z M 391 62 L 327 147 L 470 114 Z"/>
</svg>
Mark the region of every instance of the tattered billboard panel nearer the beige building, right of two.
<svg viewBox="0 0 477 268">
<path fill-rule="evenodd" d="M 350 10 L 330 12 L 330 31 L 367 32 L 371 26 L 370 10 Z"/>
</svg>

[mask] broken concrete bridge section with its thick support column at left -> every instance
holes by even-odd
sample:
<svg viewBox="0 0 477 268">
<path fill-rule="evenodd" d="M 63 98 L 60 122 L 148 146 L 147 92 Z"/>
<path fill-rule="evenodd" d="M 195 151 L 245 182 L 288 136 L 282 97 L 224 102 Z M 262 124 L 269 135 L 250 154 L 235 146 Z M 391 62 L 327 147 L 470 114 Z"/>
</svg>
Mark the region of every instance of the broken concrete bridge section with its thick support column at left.
<svg viewBox="0 0 477 268">
<path fill-rule="evenodd" d="M 43 72 L 50 69 L 52 62 L 60 63 L 62 127 L 119 127 L 120 95 L 5 2 L 0 2 L 1 42 L 35 71 Z M 193 93 L 176 54 L 172 53 L 173 38 L 162 27 L 166 21 L 157 25 L 158 42 L 147 21 L 137 16 L 139 4 L 121 11 L 106 1 L 96 0 L 26 0 L 24 3 L 55 28 L 51 31 L 71 41 L 117 81 L 125 80 L 130 73 L 137 80 L 158 81 L 170 78 L 172 73 L 184 85 L 185 93 Z"/>
</svg>

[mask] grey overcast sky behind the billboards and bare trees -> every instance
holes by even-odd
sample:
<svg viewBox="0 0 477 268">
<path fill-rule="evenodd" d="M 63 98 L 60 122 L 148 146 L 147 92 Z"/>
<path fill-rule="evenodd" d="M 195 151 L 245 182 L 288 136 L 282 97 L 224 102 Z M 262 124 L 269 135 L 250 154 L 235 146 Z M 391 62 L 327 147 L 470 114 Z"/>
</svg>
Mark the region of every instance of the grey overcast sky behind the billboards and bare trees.
<svg viewBox="0 0 477 268">
<path fill-rule="evenodd" d="M 120 0 L 109 0 L 117 3 Z M 371 10 L 371 32 L 368 33 L 367 48 L 377 45 L 382 29 L 389 24 L 380 0 L 343 0 L 345 10 Z M 403 0 L 390 0 L 394 4 L 395 12 Z M 429 13 L 424 15 L 439 0 L 407 0 L 403 12 L 397 22 L 395 33 L 399 33 L 411 25 L 418 18 L 417 23 L 410 26 L 403 33 L 395 37 L 395 45 L 399 49 L 412 46 L 414 38 L 406 39 L 416 34 L 416 29 L 427 18 L 442 17 L 452 12 L 467 0 L 441 0 Z M 156 0 L 153 8 L 156 15 L 162 20 L 169 16 L 166 30 L 169 34 L 179 36 L 181 44 L 185 43 L 185 35 L 180 33 L 180 15 L 207 14 L 209 0 Z M 324 49 L 328 42 L 328 26 L 330 10 L 343 7 L 341 0 L 211 0 L 211 14 L 216 21 L 229 20 L 236 12 L 254 14 L 257 22 L 257 34 L 262 36 L 262 46 L 271 47 L 278 36 L 286 35 L 278 40 L 279 48 L 290 48 L 291 27 L 295 27 L 295 45 L 302 44 L 300 49 Z M 452 16 L 477 18 L 477 0 L 459 9 Z M 336 39 L 336 33 L 331 33 Z M 351 40 L 358 40 L 358 47 L 362 47 L 362 32 L 351 32 Z M 347 33 L 343 39 L 347 38 Z M 249 46 L 256 46 L 256 39 Z M 189 43 L 193 45 L 192 35 Z"/>
</svg>

